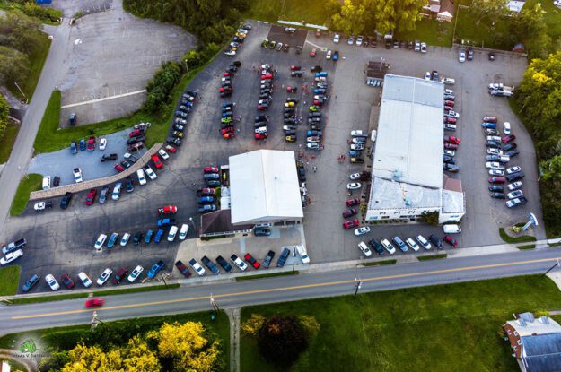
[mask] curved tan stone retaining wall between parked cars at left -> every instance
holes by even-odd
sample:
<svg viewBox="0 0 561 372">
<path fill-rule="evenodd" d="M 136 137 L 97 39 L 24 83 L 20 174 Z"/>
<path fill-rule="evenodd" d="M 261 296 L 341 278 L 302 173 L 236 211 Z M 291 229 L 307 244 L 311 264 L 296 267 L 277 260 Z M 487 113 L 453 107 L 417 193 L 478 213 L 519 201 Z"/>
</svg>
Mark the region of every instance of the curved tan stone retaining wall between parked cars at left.
<svg viewBox="0 0 561 372">
<path fill-rule="evenodd" d="M 150 160 L 150 157 L 158 150 L 160 150 L 162 144 L 163 143 L 155 143 L 148 151 L 145 152 L 143 156 L 140 157 L 139 160 L 136 161 L 136 163 L 134 163 L 129 169 L 125 169 L 124 172 L 118 173 L 110 177 L 103 177 L 103 178 L 92 179 L 90 181 L 84 181 L 79 184 L 52 187 L 49 190 L 33 191 L 30 195 L 30 201 L 62 196 L 65 195 L 66 192 L 79 193 L 80 191 L 89 190 L 91 188 L 113 184 L 127 176 L 132 175 L 133 173 L 136 172 L 136 170 L 144 167 Z"/>
</svg>

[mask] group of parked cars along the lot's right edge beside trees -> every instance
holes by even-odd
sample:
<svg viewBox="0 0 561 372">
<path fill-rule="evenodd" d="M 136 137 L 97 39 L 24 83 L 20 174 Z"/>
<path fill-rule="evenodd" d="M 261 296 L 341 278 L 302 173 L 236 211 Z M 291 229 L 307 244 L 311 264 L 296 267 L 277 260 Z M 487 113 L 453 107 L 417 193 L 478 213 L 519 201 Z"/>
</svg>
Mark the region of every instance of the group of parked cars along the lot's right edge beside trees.
<svg viewBox="0 0 561 372">
<path fill-rule="evenodd" d="M 522 192 L 522 178 L 524 173 L 519 166 L 508 167 L 513 157 L 520 151 L 514 143 L 516 135 L 512 133 L 511 124 L 504 122 L 501 136 L 498 119 L 496 117 L 483 117 L 481 127 L 486 136 L 486 163 L 489 172 L 489 192 L 495 199 L 508 199 L 505 202 L 508 208 L 513 208 L 528 202 Z M 504 190 L 504 184 L 509 183 Z"/>
</svg>

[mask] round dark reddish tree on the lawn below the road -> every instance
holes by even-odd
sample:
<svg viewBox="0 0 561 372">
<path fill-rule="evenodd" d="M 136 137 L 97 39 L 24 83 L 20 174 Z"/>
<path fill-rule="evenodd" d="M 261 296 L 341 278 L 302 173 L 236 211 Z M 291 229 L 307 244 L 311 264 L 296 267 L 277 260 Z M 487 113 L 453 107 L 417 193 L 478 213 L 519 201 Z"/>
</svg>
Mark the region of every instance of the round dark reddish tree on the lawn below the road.
<svg viewBox="0 0 561 372">
<path fill-rule="evenodd" d="M 308 337 L 295 316 L 271 316 L 259 331 L 258 346 L 263 358 L 287 368 L 308 348 Z"/>
</svg>

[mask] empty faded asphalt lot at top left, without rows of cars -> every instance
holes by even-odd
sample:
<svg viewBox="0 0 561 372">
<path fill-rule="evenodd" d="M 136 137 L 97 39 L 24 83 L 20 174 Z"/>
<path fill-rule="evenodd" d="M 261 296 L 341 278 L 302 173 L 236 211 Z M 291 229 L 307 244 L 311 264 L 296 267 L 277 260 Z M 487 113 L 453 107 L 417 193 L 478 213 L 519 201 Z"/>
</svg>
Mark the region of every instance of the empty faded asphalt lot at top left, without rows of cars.
<svg viewBox="0 0 561 372">
<path fill-rule="evenodd" d="M 68 7 L 65 13 L 75 11 L 74 2 L 59 5 Z M 100 7 L 105 9 L 106 4 L 81 4 L 84 10 Z M 58 83 L 63 126 L 68 125 L 67 118 L 73 112 L 77 125 L 86 125 L 136 111 L 155 71 L 165 61 L 180 60 L 195 46 L 196 39 L 179 26 L 137 18 L 123 11 L 121 0 L 115 0 L 110 10 L 77 20 L 69 42 L 74 43 L 68 49 L 70 63 Z"/>
</svg>

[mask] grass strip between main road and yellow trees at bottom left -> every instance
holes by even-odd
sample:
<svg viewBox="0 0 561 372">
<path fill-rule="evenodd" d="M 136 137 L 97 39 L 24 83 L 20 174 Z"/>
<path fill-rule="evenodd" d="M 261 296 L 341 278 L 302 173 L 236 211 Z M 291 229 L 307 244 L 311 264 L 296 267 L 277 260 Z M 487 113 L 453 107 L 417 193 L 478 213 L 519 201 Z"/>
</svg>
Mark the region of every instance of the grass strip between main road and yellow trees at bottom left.
<svg viewBox="0 0 561 372">
<path fill-rule="evenodd" d="M 100 314 L 103 317 L 102 312 Z M 212 333 L 215 333 L 217 338 L 220 339 L 222 345 L 222 357 L 224 359 L 224 370 L 230 368 L 230 322 L 228 316 L 223 311 L 220 311 L 211 321 L 211 312 L 201 312 L 193 314 L 179 314 L 174 316 L 154 316 L 146 318 L 133 318 L 127 320 L 119 320 L 117 322 L 106 322 L 108 324 L 134 324 L 139 333 L 145 333 L 158 328 L 164 322 L 179 322 L 185 323 L 201 322 Z M 98 325 L 102 326 L 102 325 Z M 0 348 L 12 349 L 18 346 L 18 342 L 26 338 L 39 339 L 41 344 L 46 345 L 48 348 L 58 348 L 60 350 L 69 350 L 75 347 L 76 343 L 80 341 L 82 335 L 87 333 L 90 329 L 89 324 L 72 325 L 68 327 L 48 328 L 37 331 L 11 333 L 0 337 Z"/>
</svg>

